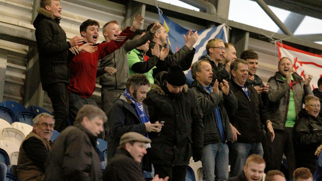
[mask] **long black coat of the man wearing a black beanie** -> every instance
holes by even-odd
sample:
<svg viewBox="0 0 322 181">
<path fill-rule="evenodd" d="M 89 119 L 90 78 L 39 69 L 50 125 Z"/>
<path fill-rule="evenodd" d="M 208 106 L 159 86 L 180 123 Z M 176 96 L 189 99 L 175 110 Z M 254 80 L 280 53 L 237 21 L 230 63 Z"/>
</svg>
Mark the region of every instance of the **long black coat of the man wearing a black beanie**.
<svg viewBox="0 0 322 181">
<path fill-rule="evenodd" d="M 179 94 L 169 93 L 167 72 L 160 72 L 147 93 L 150 121 L 165 121 L 161 132 L 149 134 L 153 164 L 188 165 L 192 149 L 203 149 L 204 126 L 202 112 L 194 93 L 185 85 Z M 152 132 L 151 132 L 152 133 Z"/>
</svg>

